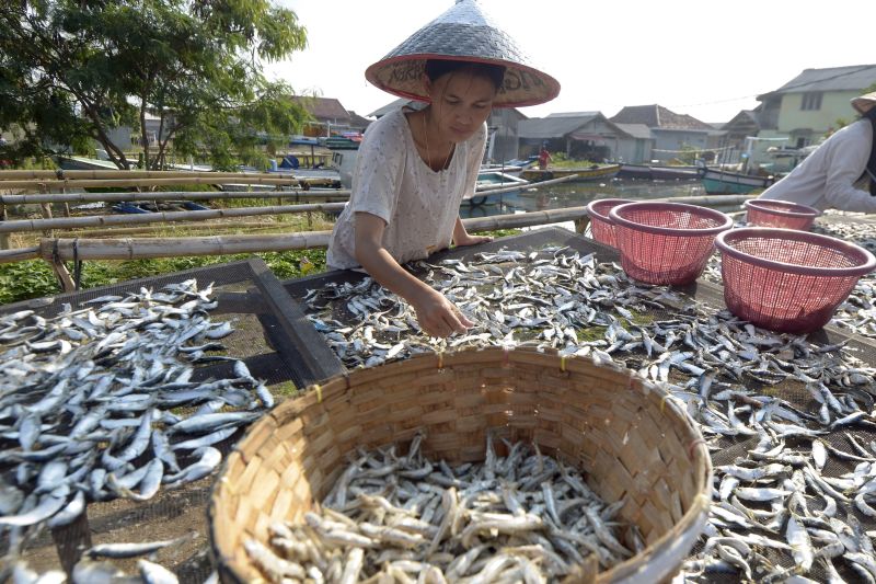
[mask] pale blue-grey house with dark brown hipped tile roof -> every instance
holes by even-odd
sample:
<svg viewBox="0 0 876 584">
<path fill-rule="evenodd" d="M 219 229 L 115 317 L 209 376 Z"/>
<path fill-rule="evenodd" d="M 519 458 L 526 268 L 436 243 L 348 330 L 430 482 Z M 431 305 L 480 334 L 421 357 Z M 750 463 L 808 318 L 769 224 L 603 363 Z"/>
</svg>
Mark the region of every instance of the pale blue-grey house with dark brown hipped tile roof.
<svg viewBox="0 0 876 584">
<path fill-rule="evenodd" d="M 692 151 L 710 149 L 710 135 L 715 128 L 687 114 L 677 114 L 657 104 L 627 105 L 609 118 L 614 124 L 647 126 L 654 139 L 652 157 L 669 161 Z"/>
</svg>

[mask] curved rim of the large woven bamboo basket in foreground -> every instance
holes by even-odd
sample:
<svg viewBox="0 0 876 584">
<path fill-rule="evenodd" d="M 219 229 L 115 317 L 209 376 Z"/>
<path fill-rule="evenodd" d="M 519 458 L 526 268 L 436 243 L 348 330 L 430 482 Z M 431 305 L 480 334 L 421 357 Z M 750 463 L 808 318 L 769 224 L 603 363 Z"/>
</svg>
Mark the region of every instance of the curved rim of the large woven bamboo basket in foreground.
<svg viewBox="0 0 876 584">
<path fill-rule="evenodd" d="M 699 537 L 700 533 L 702 531 L 702 527 L 707 520 L 708 508 L 712 502 L 712 459 L 700 430 L 694 425 L 693 421 L 688 415 L 680 401 L 677 398 L 673 398 L 665 387 L 662 387 L 660 383 L 652 382 L 650 380 L 639 376 L 636 371 L 626 369 L 614 363 L 597 362 L 591 357 L 561 356 L 558 352 L 553 348 L 463 348 L 448 352 L 418 354 L 404 360 L 392 362 L 377 367 L 356 369 L 335 375 L 323 380 L 322 383 L 312 383 L 308 386 L 303 394 L 298 398 L 284 401 L 253 423 L 247 428 L 246 434 L 238 442 L 238 444 L 234 445 L 231 454 L 229 454 L 229 456 L 227 456 L 222 461 L 217 480 L 214 482 L 210 490 L 210 500 L 207 506 L 208 536 L 210 539 L 210 552 L 214 556 L 214 561 L 219 572 L 220 581 L 235 583 L 246 582 L 246 579 L 241 577 L 241 575 L 234 569 L 233 562 L 223 557 L 221 550 L 219 549 L 217 543 L 219 540 L 219 535 L 216 531 L 217 522 L 215 520 L 215 516 L 222 499 L 222 489 L 229 482 L 227 472 L 232 457 L 237 455 L 243 459 L 244 463 L 249 463 L 250 456 L 244 453 L 244 448 L 247 439 L 257 432 L 257 428 L 261 425 L 267 423 L 267 421 L 272 421 L 275 427 L 279 427 L 285 423 L 284 420 L 288 422 L 289 420 L 297 417 L 297 414 L 301 413 L 308 408 L 313 406 L 314 404 L 319 405 L 331 401 L 333 398 L 339 398 L 344 393 L 355 389 L 356 386 L 372 383 L 374 380 L 379 380 L 381 377 L 396 376 L 400 373 L 411 374 L 435 369 L 441 370 L 448 367 L 453 367 L 458 364 L 471 365 L 479 362 L 484 362 L 486 364 L 488 363 L 487 357 L 493 357 L 494 360 L 495 357 L 499 357 L 498 360 L 504 367 L 510 367 L 512 363 L 517 362 L 520 362 L 521 364 L 531 364 L 531 360 L 535 358 L 540 360 L 553 360 L 561 371 L 568 374 L 584 374 L 588 367 L 607 368 L 614 370 L 615 373 L 624 374 L 627 377 L 627 389 L 637 389 L 644 394 L 649 392 L 657 393 L 660 397 L 660 411 L 665 412 L 666 409 L 669 409 L 677 416 L 678 423 L 680 423 L 693 438 L 687 449 L 687 454 L 692 466 L 694 467 L 694 470 L 696 471 L 695 481 L 699 493 L 693 497 L 693 501 L 690 502 L 689 508 L 683 513 L 681 518 L 672 525 L 670 529 L 659 536 L 654 542 L 648 545 L 645 550 L 634 554 L 632 558 L 624 560 L 623 562 L 613 565 L 609 570 L 598 572 L 593 582 L 625 582 L 627 580 L 632 582 L 632 579 L 636 576 L 637 572 L 641 572 L 643 568 L 647 566 L 648 562 L 653 558 L 657 557 L 660 552 L 668 551 L 675 547 L 675 545 L 683 545 L 683 542 L 680 543 L 684 539 L 682 535 L 690 534 L 691 529 L 695 529 L 695 536 Z M 351 381 L 350 378 L 355 378 L 355 380 Z M 636 388 L 636 386 L 638 387 Z M 295 415 L 285 415 L 287 410 L 292 410 Z M 572 581 L 570 579 L 574 577 L 575 572 L 567 576 L 565 581 Z"/>
</svg>

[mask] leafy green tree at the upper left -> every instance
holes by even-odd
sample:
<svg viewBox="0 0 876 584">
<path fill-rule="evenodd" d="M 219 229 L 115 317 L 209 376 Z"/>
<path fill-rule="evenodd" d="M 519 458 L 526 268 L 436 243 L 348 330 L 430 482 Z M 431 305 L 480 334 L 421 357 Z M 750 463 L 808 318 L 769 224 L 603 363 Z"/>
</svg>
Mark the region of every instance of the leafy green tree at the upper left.
<svg viewBox="0 0 876 584">
<path fill-rule="evenodd" d="M 119 167 L 136 128 L 147 168 L 173 140 L 219 168 L 256 162 L 309 118 L 263 64 L 307 46 L 291 10 L 268 0 L 22 0 L 0 11 L 0 129 L 7 158 L 96 140 Z M 147 114 L 159 118 L 148 147 Z M 53 146 L 55 145 L 55 146 Z M 2 157 L 0 157 L 2 158 Z"/>
</svg>

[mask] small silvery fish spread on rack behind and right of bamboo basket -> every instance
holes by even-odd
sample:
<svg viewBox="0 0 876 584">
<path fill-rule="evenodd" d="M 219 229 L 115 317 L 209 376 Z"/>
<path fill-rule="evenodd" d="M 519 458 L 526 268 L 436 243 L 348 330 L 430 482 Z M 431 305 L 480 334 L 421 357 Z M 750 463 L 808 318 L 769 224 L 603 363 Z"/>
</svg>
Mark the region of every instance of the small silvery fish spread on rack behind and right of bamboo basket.
<svg viewBox="0 0 876 584">
<path fill-rule="evenodd" d="M 666 382 L 713 453 L 711 522 L 680 579 L 706 582 L 729 571 L 781 582 L 839 570 L 876 583 L 867 528 L 854 519 L 876 523 L 873 364 L 842 343 L 818 346 L 758 329 L 570 250 L 477 254 L 425 267 L 426 282 L 476 328 L 427 340 L 406 305 L 370 282 L 314 291 L 312 319 L 346 364 L 521 344 L 614 360 Z M 336 314 L 353 318 L 327 316 L 338 305 L 345 310 Z"/>
</svg>

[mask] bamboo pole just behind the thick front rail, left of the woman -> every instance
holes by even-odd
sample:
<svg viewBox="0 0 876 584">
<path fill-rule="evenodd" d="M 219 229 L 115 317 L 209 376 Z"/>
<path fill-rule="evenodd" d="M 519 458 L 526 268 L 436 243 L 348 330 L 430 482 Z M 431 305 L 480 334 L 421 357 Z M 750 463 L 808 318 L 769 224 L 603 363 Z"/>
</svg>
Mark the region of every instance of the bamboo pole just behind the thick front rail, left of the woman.
<svg viewBox="0 0 876 584">
<path fill-rule="evenodd" d="M 270 207 L 238 207 L 229 209 L 181 210 L 143 213 L 138 215 L 95 215 L 57 219 L 18 219 L 0 222 L 0 233 L 38 231 L 41 229 L 81 229 L 83 227 L 106 227 L 114 225 L 143 225 L 176 221 L 203 221 L 205 219 L 226 219 L 231 217 L 254 217 L 261 215 L 290 215 L 299 213 L 332 213 L 344 208 L 344 203 L 315 205 L 280 205 Z M 46 236 L 51 237 L 51 236 Z"/>
</svg>

